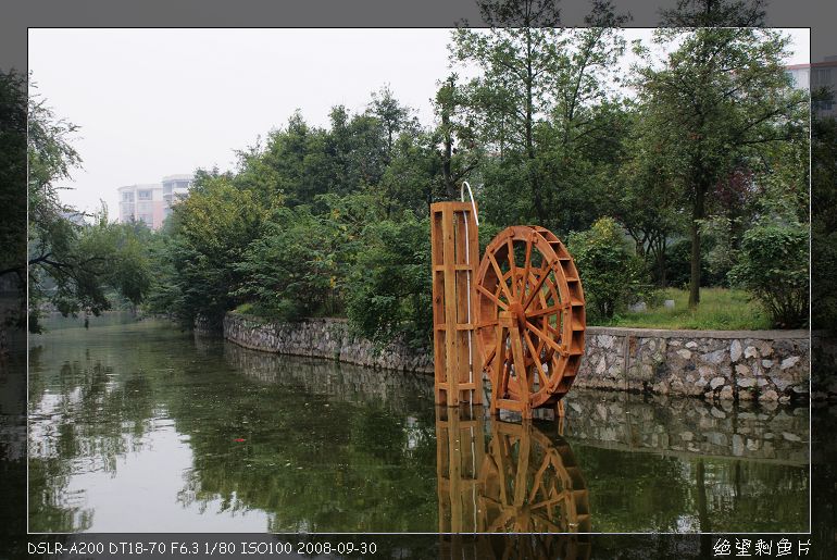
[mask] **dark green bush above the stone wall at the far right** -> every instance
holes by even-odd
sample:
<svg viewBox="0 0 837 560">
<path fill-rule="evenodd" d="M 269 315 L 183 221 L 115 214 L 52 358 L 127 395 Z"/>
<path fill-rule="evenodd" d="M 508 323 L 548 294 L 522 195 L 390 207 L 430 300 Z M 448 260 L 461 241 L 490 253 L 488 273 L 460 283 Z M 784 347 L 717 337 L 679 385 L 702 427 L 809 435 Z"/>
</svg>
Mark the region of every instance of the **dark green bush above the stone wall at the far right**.
<svg viewBox="0 0 837 560">
<path fill-rule="evenodd" d="M 809 324 L 808 245 L 808 227 L 802 224 L 767 223 L 744 236 L 729 281 L 764 304 L 774 326 L 797 328 Z"/>
</svg>

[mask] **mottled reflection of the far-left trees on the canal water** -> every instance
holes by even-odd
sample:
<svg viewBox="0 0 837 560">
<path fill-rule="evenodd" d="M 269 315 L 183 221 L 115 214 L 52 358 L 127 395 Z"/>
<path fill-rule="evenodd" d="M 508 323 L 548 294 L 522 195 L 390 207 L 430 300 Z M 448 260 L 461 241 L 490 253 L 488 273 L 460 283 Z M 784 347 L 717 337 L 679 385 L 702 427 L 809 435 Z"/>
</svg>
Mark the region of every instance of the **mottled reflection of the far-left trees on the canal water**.
<svg viewBox="0 0 837 560">
<path fill-rule="evenodd" d="M 71 475 L 79 464 L 113 473 L 120 457 L 140 447 L 154 412 L 146 371 L 161 363 L 122 350 L 67 329 L 29 351 L 32 531 L 87 531 L 93 512 L 84 509 L 83 493 L 67 491 Z"/>
</svg>

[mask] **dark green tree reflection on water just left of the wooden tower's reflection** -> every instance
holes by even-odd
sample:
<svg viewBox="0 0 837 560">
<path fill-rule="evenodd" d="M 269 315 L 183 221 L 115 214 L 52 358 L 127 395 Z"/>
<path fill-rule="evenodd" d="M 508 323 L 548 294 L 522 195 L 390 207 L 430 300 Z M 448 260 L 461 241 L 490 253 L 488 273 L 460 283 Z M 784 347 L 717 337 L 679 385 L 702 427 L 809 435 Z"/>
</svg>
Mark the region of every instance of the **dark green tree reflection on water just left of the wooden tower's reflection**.
<svg viewBox="0 0 837 560">
<path fill-rule="evenodd" d="M 380 401 L 387 372 L 240 348 L 225 356 L 247 376 L 204 373 L 188 399 L 171 398 L 195 456 L 184 505 L 261 509 L 270 531 L 434 526 L 430 419 L 409 386 Z M 218 398 L 230 381 L 235 390 Z"/>
</svg>

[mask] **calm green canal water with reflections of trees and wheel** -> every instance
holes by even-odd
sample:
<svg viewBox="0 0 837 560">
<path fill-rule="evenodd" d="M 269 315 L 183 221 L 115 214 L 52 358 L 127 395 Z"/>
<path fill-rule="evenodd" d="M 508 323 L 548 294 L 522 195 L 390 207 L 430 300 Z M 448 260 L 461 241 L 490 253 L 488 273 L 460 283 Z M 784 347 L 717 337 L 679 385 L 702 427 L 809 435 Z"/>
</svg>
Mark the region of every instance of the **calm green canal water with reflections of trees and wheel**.
<svg viewBox="0 0 837 560">
<path fill-rule="evenodd" d="M 30 532 L 809 530 L 807 407 L 573 391 L 495 421 L 425 375 L 79 325 L 30 341 Z"/>
</svg>

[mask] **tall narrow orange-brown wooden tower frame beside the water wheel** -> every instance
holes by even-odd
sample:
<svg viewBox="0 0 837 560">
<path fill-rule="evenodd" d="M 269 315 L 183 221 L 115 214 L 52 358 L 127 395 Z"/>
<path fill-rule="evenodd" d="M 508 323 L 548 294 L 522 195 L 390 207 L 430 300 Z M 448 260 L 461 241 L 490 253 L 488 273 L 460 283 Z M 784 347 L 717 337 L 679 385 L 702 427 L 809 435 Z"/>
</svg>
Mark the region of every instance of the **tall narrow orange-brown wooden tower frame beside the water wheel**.
<svg viewBox="0 0 837 560">
<path fill-rule="evenodd" d="M 434 387 L 436 405 L 483 403 L 475 337 L 479 241 L 472 202 L 430 204 Z"/>
</svg>

